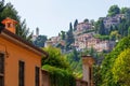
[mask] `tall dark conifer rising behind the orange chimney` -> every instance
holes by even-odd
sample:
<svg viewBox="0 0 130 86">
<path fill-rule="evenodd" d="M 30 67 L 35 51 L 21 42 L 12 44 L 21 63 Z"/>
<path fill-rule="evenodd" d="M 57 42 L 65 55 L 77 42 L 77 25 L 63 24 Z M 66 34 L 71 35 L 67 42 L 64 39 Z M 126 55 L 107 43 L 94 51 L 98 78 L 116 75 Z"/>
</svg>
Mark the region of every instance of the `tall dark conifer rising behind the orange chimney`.
<svg viewBox="0 0 130 86">
<path fill-rule="evenodd" d="M 2 4 L 2 8 L 0 6 L 0 20 L 10 17 L 18 22 L 16 26 L 16 34 L 30 42 L 32 38 L 32 32 L 29 32 L 29 28 L 27 28 L 25 20 L 21 22 L 21 17 L 15 8 L 11 3 L 6 3 L 5 5 Z"/>
</svg>

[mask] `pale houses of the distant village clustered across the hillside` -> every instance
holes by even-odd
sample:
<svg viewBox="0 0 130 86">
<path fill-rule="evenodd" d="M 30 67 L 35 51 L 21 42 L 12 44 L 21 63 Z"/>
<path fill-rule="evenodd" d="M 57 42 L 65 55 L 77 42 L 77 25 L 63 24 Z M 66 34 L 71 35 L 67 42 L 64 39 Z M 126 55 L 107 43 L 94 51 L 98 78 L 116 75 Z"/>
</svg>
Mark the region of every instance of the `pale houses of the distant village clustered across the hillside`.
<svg viewBox="0 0 130 86">
<path fill-rule="evenodd" d="M 121 23 L 121 18 L 125 18 L 125 14 L 117 14 L 113 17 L 101 17 L 103 18 L 103 24 L 106 30 L 109 30 L 112 26 L 118 26 Z M 95 26 L 90 22 L 82 22 L 76 26 L 76 30 L 73 31 L 75 41 L 72 46 L 77 51 L 83 51 L 84 48 L 94 48 L 96 52 L 110 52 L 117 40 L 101 40 L 96 38 Z M 62 40 L 61 35 L 52 37 L 50 40 L 46 41 L 44 46 L 53 45 L 56 46 L 61 44 L 65 46 L 65 40 Z"/>
</svg>

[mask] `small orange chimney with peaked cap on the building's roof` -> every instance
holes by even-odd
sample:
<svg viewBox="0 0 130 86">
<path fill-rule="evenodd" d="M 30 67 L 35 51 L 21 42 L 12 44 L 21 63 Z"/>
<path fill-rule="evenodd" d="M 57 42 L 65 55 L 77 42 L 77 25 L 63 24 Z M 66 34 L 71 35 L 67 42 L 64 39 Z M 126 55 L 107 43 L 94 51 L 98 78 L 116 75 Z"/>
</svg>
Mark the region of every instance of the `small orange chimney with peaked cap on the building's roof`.
<svg viewBox="0 0 130 86">
<path fill-rule="evenodd" d="M 16 20 L 10 18 L 10 17 L 6 17 L 5 19 L 3 19 L 1 22 L 4 26 L 5 26 L 5 29 L 8 29 L 9 31 L 11 31 L 12 33 L 15 33 L 15 25 L 17 24 Z"/>
</svg>

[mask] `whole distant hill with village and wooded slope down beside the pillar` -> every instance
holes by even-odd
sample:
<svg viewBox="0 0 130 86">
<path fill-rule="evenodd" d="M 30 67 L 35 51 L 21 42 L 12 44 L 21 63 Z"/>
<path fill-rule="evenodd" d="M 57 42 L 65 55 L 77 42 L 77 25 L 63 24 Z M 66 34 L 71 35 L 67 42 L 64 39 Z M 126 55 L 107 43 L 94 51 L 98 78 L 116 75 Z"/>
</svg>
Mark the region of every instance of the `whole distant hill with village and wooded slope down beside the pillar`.
<svg viewBox="0 0 130 86">
<path fill-rule="evenodd" d="M 42 43 L 42 46 L 52 45 L 61 48 L 72 69 L 80 77 L 82 54 L 92 55 L 96 64 L 101 64 L 104 56 L 113 51 L 119 40 L 129 34 L 130 9 L 112 5 L 107 15 L 96 22 L 84 19 L 78 23 L 76 19 L 74 24 L 69 24 L 68 31 L 61 31 L 57 37 L 47 41 L 38 38 L 35 42 L 37 46 L 40 46 L 38 43 Z"/>
</svg>

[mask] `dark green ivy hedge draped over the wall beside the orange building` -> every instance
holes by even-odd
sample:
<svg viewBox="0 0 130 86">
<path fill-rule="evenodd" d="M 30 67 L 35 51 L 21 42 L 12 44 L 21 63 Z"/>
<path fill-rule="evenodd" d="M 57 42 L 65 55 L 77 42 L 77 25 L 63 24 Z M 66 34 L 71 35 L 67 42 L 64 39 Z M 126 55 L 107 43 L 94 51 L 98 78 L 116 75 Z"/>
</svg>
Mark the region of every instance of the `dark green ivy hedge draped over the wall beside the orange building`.
<svg viewBox="0 0 130 86">
<path fill-rule="evenodd" d="M 51 86 L 76 86 L 76 78 L 68 70 L 47 64 L 42 69 L 50 73 Z"/>
</svg>

